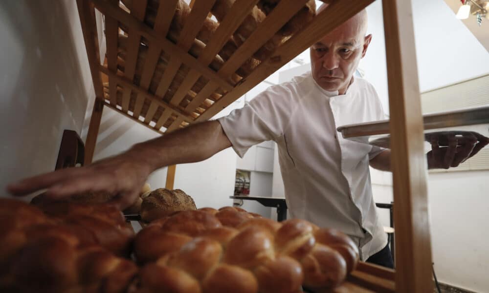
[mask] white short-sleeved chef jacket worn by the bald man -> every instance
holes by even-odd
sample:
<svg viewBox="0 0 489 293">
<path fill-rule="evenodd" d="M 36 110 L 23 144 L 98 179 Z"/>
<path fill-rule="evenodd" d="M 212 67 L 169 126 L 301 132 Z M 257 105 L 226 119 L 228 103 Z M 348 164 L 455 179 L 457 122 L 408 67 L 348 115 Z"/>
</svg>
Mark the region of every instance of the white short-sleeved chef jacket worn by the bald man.
<svg viewBox="0 0 489 293">
<path fill-rule="evenodd" d="M 381 119 L 382 105 L 367 81 L 355 78 L 338 95 L 308 72 L 267 88 L 218 121 L 240 157 L 250 146 L 275 141 L 292 217 L 343 231 L 366 260 L 387 245 L 369 171 L 369 159 L 383 149 L 346 140 L 336 127 Z"/>
</svg>

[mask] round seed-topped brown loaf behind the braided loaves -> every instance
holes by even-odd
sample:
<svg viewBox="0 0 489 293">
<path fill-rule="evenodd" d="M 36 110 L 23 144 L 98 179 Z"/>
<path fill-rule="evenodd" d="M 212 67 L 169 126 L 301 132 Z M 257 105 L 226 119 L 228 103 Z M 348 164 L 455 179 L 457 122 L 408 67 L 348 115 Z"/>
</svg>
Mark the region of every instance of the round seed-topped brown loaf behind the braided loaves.
<svg viewBox="0 0 489 293">
<path fill-rule="evenodd" d="M 141 218 L 151 222 L 157 218 L 168 216 L 176 211 L 195 210 L 195 202 L 180 189 L 169 190 L 158 188 L 143 199 Z"/>
</svg>

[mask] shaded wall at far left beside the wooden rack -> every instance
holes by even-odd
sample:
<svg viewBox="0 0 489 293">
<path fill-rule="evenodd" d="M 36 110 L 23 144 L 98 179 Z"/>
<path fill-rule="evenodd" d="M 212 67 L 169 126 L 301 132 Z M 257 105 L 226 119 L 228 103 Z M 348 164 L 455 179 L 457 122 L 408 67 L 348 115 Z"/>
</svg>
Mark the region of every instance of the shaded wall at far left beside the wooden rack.
<svg viewBox="0 0 489 293">
<path fill-rule="evenodd" d="M 0 188 L 52 171 L 93 89 L 76 2 L 0 1 Z"/>
</svg>

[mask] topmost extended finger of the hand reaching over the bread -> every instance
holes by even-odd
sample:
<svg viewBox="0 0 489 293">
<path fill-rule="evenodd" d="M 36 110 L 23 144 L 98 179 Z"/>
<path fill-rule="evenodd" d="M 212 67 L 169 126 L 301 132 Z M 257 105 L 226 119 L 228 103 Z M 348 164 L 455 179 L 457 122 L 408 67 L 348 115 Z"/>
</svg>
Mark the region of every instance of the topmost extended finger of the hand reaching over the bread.
<svg viewBox="0 0 489 293">
<path fill-rule="evenodd" d="M 34 191 L 53 186 L 69 177 L 80 176 L 85 172 L 86 170 L 83 167 L 56 170 L 54 172 L 30 177 L 23 179 L 20 182 L 9 184 L 7 186 L 7 191 L 16 196 L 27 195 Z"/>
</svg>

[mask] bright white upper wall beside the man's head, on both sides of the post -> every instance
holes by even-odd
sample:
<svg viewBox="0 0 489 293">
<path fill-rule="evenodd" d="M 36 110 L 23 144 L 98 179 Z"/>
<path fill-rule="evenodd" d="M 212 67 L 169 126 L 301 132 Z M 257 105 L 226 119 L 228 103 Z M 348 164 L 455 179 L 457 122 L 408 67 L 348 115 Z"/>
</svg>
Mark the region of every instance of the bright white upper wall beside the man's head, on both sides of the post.
<svg viewBox="0 0 489 293">
<path fill-rule="evenodd" d="M 489 54 L 443 0 L 411 0 L 421 92 L 489 72 Z M 368 33 L 373 35 L 359 67 L 389 113 L 382 2 L 367 7 Z M 487 22 L 485 23 L 488 24 Z M 482 27 L 482 29 L 487 29 Z"/>
</svg>

